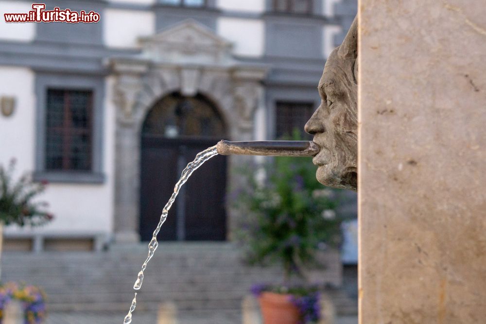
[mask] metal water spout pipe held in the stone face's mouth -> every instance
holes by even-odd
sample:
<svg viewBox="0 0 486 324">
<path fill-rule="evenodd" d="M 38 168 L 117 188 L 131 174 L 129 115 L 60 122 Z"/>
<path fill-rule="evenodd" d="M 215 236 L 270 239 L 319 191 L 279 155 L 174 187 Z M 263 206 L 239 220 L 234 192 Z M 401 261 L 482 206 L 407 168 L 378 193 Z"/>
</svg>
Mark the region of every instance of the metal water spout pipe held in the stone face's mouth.
<svg viewBox="0 0 486 324">
<path fill-rule="evenodd" d="M 314 156 L 320 147 L 312 141 L 245 141 L 221 140 L 216 145 L 221 155 Z"/>
</svg>

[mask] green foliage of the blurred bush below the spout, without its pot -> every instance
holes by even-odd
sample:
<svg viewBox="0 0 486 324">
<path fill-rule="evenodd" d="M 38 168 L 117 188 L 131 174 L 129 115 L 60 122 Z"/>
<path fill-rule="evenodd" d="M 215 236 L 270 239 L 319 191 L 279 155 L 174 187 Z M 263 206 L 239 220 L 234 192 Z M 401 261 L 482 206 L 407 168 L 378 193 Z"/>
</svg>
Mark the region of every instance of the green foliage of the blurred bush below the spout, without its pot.
<svg viewBox="0 0 486 324">
<path fill-rule="evenodd" d="M 228 198 L 242 214 L 236 234 L 250 264 L 280 264 L 288 281 L 304 276 L 320 248 L 341 243 L 335 191 L 317 182 L 311 158 L 277 157 L 241 174 Z"/>
</svg>

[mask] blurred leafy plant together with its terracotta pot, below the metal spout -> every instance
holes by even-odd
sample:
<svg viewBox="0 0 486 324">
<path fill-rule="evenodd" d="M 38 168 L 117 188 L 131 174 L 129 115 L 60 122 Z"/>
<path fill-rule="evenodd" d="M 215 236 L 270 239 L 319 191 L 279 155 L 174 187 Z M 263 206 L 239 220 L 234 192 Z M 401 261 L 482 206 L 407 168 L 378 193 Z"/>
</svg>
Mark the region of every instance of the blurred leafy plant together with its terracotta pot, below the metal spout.
<svg viewBox="0 0 486 324">
<path fill-rule="evenodd" d="M 306 271 L 317 265 L 320 250 L 341 243 L 335 191 L 317 182 L 309 158 L 277 157 L 242 173 L 241 186 L 228 199 L 243 214 L 236 235 L 245 260 L 278 264 L 283 272 L 280 285 L 252 288 L 264 323 L 317 323 L 319 291 L 309 286 Z"/>
</svg>

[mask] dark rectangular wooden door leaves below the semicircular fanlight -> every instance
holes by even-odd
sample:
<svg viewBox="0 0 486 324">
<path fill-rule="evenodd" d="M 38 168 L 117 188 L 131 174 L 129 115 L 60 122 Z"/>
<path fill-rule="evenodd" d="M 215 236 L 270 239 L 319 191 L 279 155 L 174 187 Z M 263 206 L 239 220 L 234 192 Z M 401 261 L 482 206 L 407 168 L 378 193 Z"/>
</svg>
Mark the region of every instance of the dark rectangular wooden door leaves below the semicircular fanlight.
<svg viewBox="0 0 486 324">
<path fill-rule="evenodd" d="M 152 238 L 162 208 L 174 191 L 181 171 L 216 139 L 142 136 L 140 161 L 140 238 Z M 208 160 L 182 187 L 159 240 L 225 240 L 226 156 Z"/>
</svg>

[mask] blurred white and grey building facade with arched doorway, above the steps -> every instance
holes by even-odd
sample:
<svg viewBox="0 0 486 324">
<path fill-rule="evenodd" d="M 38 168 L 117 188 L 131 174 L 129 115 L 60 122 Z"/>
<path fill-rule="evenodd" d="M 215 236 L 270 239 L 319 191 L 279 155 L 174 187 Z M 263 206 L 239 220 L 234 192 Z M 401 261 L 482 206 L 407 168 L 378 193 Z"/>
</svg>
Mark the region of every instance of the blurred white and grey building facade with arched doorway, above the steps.
<svg viewBox="0 0 486 324">
<path fill-rule="evenodd" d="M 0 13 L 32 2 L 1 1 Z M 277 138 L 317 108 L 356 0 L 46 1 L 93 24 L 0 22 L 0 163 L 50 182 L 55 220 L 7 248 L 99 250 L 150 238 L 182 168 L 217 140 Z M 1 19 L 0 19 L 1 20 Z M 226 240 L 235 159 L 195 172 L 160 235 Z M 215 198 L 216 197 L 216 198 Z M 203 220 L 204 218 L 204 220 Z M 9 245 L 10 244 L 10 245 Z"/>
</svg>

